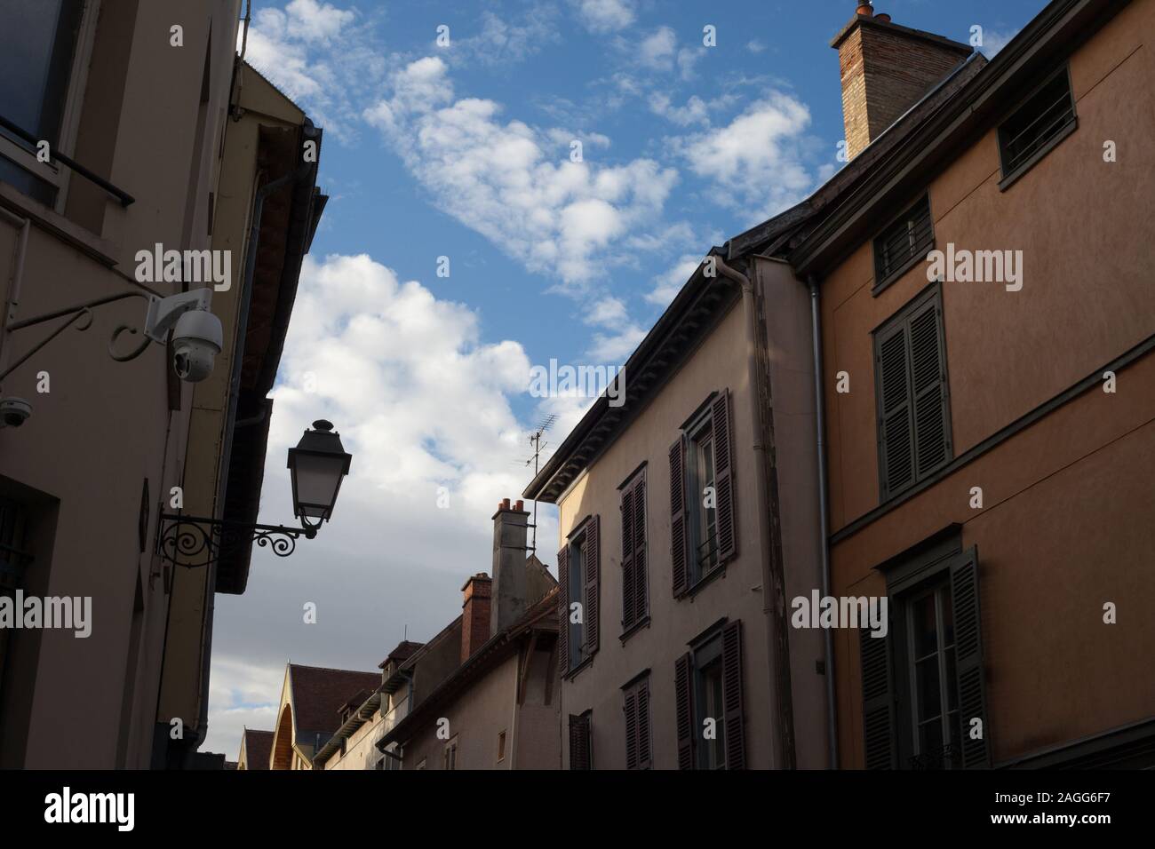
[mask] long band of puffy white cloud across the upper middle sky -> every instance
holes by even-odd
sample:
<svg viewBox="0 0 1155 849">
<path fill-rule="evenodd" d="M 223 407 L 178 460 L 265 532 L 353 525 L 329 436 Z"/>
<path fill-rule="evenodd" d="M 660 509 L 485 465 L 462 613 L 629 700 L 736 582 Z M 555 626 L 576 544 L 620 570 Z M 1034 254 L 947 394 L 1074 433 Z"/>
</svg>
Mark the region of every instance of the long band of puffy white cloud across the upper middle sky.
<svg viewBox="0 0 1155 849">
<path fill-rule="evenodd" d="M 566 288 L 621 261 L 623 240 L 661 217 L 677 181 L 648 158 L 603 165 L 552 154 L 556 133 L 504 120 L 493 100 L 457 98 L 440 58 L 411 62 L 390 82 L 365 119 L 433 202 Z"/>
</svg>

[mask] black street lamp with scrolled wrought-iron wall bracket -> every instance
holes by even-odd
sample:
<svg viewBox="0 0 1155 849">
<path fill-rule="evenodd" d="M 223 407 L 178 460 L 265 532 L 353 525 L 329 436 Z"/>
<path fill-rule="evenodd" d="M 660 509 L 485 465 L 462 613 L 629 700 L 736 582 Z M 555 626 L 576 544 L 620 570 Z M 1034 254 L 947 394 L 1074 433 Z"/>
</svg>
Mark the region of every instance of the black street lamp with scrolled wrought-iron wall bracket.
<svg viewBox="0 0 1155 849">
<path fill-rule="evenodd" d="M 306 430 L 297 446 L 289 449 L 292 509 L 300 520 L 299 528 L 162 513 L 157 553 L 163 560 L 189 568 L 208 566 L 252 543 L 270 549 L 277 557 L 289 557 L 299 537 L 312 539 L 321 522 L 333 516 L 341 481 L 351 462 L 352 455 L 341 445 L 333 423 L 318 419 L 313 430 Z"/>
</svg>

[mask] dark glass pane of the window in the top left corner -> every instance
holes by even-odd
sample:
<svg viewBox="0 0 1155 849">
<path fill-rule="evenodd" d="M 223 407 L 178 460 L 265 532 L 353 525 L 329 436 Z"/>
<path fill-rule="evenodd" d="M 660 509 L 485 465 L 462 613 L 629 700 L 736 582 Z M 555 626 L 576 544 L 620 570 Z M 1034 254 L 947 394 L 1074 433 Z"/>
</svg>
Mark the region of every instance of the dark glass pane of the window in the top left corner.
<svg viewBox="0 0 1155 849">
<path fill-rule="evenodd" d="M 59 142 L 83 0 L 9 0 L 0 29 L 3 116 Z"/>
</svg>

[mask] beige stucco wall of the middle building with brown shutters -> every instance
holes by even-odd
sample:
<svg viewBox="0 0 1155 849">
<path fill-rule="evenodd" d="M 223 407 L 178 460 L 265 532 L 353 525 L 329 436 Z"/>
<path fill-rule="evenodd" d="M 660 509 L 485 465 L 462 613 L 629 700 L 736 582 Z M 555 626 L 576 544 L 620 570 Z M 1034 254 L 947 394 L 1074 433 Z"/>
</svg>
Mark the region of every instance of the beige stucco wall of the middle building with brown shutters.
<svg viewBox="0 0 1155 849">
<path fill-rule="evenodd" d="M 627 375 L 628 379 L 628 375 Z M 714 390 L 730 389 L 738 556 L 693 598 L 675 601 L 670 571 L 670 445 L 683 422 Z M 673 664 L 687 641 L 722 617 L 743 625 L 748 766 L 772 764 L 770 705 L 762 572 L 758 551 L 751 416 L 743 311 L 737 303 L 631 426 L 559 499 L 558 545 L 587 515 L 601 516 L 601 635 L 593 662 L 561 684 L 561 722 L 593 709 L 595 768 L 625 768 L 621 685 L 650 670 L 654 766 L 677 766 Z M 650 624 L 625 645 L 621 633 L 621 514 L 618 486 L 646 463 Z M 568 744 L 562 768 L 568 768 Z"/>
</svg>

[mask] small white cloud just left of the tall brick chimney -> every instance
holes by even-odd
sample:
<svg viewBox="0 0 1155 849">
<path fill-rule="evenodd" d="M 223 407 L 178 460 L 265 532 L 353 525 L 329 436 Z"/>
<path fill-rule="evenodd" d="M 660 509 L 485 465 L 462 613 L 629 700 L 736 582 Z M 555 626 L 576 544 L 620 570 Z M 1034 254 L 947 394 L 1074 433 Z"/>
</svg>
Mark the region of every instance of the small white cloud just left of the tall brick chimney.
<svg viewBox="0 0 1155 849">
<path fill-rule="evenodd" d="M 690 169 L 714 181 L 724 204 L 753 223 L 798 202 L 814 185 L 803 158 L 810 110 L 769 92 L 728 126 L 672 140 Z"/>
</svg>

